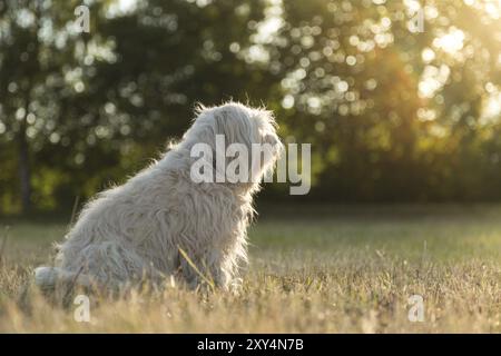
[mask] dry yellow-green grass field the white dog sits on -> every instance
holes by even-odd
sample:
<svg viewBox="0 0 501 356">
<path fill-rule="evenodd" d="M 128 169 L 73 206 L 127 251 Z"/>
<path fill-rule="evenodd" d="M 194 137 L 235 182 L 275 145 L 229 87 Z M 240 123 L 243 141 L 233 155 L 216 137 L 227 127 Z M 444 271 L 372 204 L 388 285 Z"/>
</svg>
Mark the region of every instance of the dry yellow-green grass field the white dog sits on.
<svg viewBox="0 0 501 356">
<path fill-rule="evenodd" d="M 501 332 L 500 206 L 282 207 L 261 215 L 239 293 L 170 287 L 91 300 L 90 323 L 75 320 L 77 305 L 57 307 L 26 288 L 65 225 L 0 220 L 10 225 L 0 332 Z M 409 320 L 412 295 L 424 299 L 424 322 Z"/>
</svg>

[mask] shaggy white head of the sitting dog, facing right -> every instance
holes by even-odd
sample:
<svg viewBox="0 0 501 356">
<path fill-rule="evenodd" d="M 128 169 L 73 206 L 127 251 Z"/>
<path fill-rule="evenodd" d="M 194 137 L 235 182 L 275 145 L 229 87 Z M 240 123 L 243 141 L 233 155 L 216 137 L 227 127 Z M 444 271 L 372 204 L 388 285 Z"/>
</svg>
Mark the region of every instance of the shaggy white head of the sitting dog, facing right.
<svg viewBox="0 0 501 356">
<path fill-rule="evenodd" d="M 225 174 L 229 182 L 235 182 L 232 177 L 235 171 L 239 177 L 247 177 L 247 181 L 238 182 L 258 182 L 273 171 L 283 150 L 273 113 L 237 102 L 212 108 L 200 106 L 184 141 L 188 148 L 197 144 L 209 147 L 214 171 Z M 236 167 L 236 159 L 246 160 L 247 165 Z M 243 167 L 247 168 L 247 175 L 240 175 Z M 220 171 L 223 169 L 225 172 Z"/>
</svg>

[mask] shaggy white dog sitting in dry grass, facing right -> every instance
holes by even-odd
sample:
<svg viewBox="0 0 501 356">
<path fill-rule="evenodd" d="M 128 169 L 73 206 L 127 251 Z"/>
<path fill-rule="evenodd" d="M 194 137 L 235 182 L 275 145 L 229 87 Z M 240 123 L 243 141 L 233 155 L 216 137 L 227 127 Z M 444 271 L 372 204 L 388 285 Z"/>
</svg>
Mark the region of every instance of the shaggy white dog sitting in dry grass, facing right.
<svg viewBox="0 0 501 356">
<path fill-rule="evenodd" d="M 253 144 L 273 147 L 272 155 L 259 154 L 258 178 L 273 170 L 282 150 L 269 111 L 235 102 L 200 107 L 181 141 L 159 161 L 86 205 L 59 246 L 56 267 L 37 268 L 36 284 L 116 288 L 175 276 L 190 287 L 208 279 L 227 288 L 236 281 L 247 260 L 246 230 L 259 181 L 194 182 L 191 149 L 205 144 L 216 150 L 216 135 L 248 152 Z"/>
</svg>

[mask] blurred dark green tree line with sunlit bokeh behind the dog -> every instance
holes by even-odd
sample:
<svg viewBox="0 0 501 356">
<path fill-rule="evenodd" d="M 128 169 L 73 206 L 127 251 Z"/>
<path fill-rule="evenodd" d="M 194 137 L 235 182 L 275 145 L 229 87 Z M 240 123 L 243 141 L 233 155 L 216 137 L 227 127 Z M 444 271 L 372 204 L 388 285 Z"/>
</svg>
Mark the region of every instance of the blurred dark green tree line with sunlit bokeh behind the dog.
<svg viewBox="0 0 501 356">
<path fill-rule="evenodd" d="M 310 195 L 264 199 L 500 200 L 500 16 L 492 0 L 0 0 L 0 214 L 124 181 L 197 101 L 227 99 L 312 144 Z"/>
</svg>

